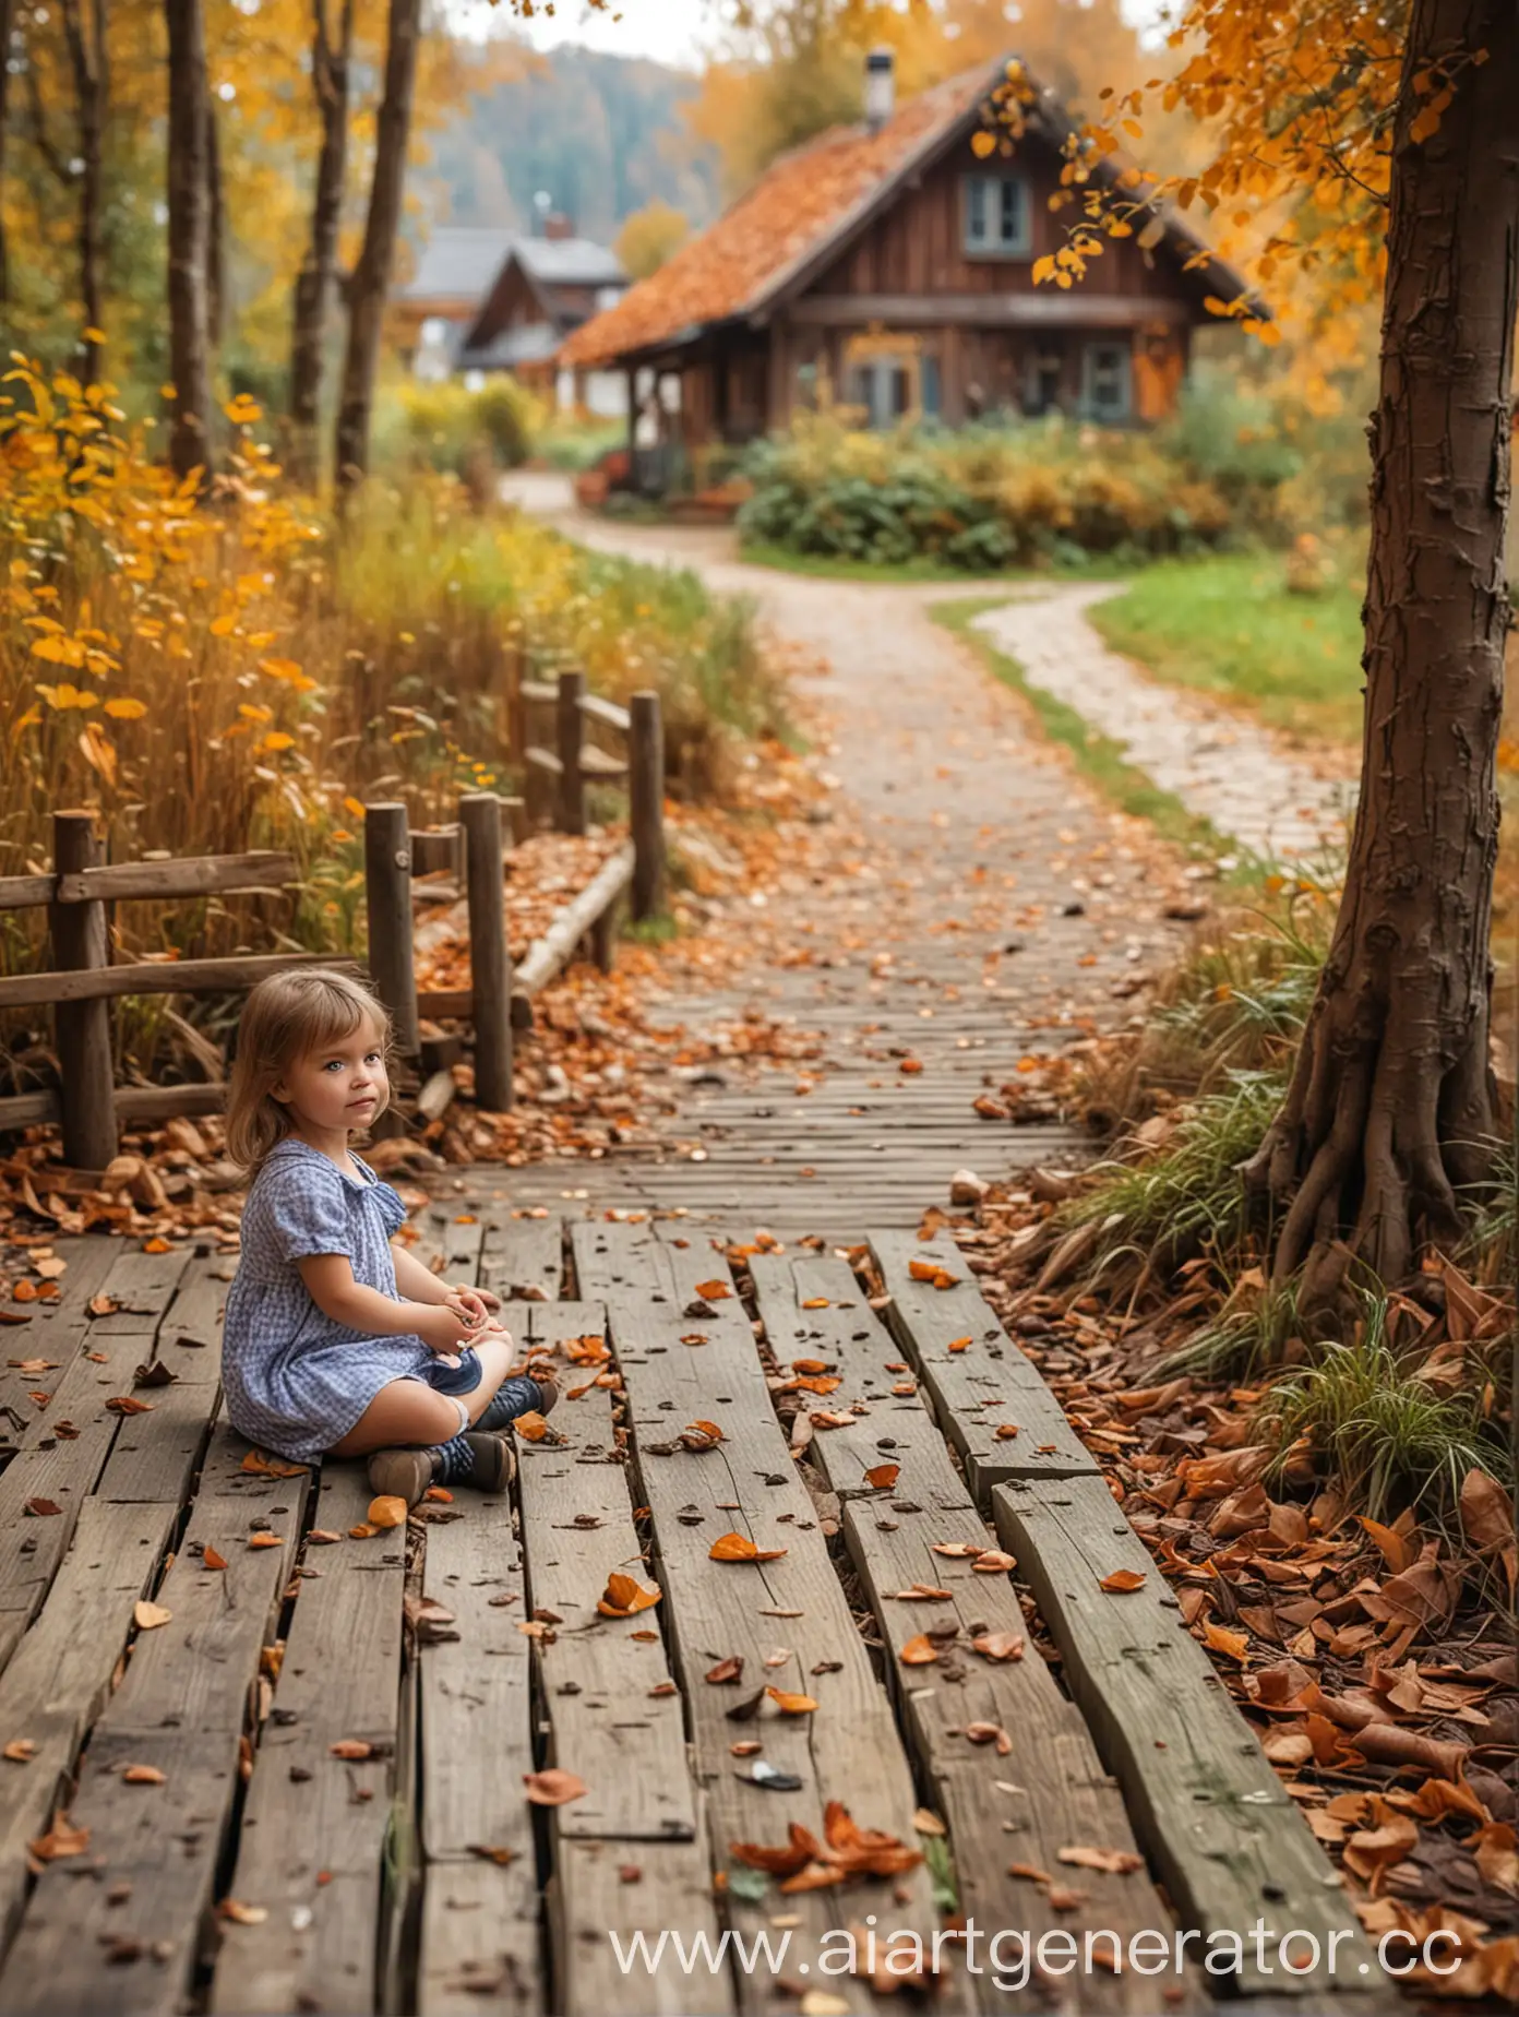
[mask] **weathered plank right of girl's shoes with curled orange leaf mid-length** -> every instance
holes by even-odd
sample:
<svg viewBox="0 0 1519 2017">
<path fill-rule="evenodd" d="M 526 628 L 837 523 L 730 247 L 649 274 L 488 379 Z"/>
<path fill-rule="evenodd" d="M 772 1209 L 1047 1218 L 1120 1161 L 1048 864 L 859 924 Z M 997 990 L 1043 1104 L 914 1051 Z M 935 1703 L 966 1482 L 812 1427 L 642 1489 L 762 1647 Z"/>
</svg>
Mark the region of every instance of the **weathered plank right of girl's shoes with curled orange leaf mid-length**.
<svg viewBox="0 0 1519 2017">
<path fill-rule="evenodd" d="M 599 1303 L 508 1303 L 506 1323 L 537 1349 L 555 1349 L 567 1335 L 605 1335 Z M 553 1416 L 563 1442 L 516 1444 L 529 1604 L 561 1620 L 533 1642 L 551 1759 L 587 1785 L 585 1799 L 553 1811 L 555 1835 L 690 1842 L 696 1803 L 686 1731 L 658 1620 L 650 1612 L 597 1614 L 609 1575 L 648 1587 L 650 1573 L 633 1531 L 611 1394 L 587 1386 L 595 1370 L 565 1368 L 565 1380 L 579 1386 Z"/>
</svg>

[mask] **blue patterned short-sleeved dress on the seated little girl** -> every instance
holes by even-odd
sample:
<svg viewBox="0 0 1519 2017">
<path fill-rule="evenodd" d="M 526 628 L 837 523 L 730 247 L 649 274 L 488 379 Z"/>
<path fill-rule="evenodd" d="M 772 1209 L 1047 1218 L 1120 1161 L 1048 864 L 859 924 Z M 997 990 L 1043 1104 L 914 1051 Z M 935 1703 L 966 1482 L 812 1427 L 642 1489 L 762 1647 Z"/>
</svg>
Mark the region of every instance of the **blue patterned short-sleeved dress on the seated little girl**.
<svg viewBox="0 0 1519 2017">
<path fill-rule="evenodd" d="M 242 1436 L 293 1462 L 309 1464 L 341 1442 L 391 1380 L 456 1394 L 480 1380 L 468 1349 L 464 1368 L 450 1368 L 416 1335 L 365 1337 L 313 1303 L 297 1267 L 311 1255 L 347 1255 L 357 1283 L 401 1301 L 389 1242 L 405 1224 L 405 1204 L 353 1162 L 359 1176 L 286 1136 L 242 1210 L 242 1255 L 222 1327 L 226 1412 Z"/>
</svg>

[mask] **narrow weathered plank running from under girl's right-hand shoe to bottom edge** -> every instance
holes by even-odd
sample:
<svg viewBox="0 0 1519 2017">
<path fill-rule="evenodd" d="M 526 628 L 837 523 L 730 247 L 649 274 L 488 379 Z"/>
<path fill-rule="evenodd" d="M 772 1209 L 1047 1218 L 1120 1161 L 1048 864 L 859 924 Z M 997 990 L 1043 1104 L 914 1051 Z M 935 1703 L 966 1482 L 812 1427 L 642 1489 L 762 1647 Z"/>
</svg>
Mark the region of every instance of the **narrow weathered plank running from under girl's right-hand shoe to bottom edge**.
<svg viewBox="0 0 1519 2017">
<path fill-rule="evenodd" d="M 426 1595 L 458 1638 L 418 1648 L 422 1700 L 420 2017 L 549 2005 L 533 1809 L 533 1670 L 522 1559 L 504 1499 L 428 1527 Z M 494 1858 L 500 1858 L 496 1862 Z"/>
</svg>

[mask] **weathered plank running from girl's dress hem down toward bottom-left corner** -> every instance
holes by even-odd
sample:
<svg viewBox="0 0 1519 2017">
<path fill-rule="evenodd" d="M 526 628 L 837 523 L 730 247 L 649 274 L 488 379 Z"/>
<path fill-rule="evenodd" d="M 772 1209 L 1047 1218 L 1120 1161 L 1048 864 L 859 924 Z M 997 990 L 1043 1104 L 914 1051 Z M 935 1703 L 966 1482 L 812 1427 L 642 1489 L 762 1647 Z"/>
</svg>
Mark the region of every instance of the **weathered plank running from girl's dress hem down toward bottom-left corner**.
<svg viewBox="0 0 1519 2017">
<path fill-rule="evenodd" d="M 157 1593 L 169 1618 L 137 1634 L 91 1735 L 73 1819 L 91 1831 L 99 1882 L 73 1882 L 71 1862 L 42 1868 L 0 1967 L 6 2011 L 171 2017 L 194 1981 L 240 1785 L 248 1696 L 309 1482 L 307 1472 L 246 1472 L 244 1452 L 226 1430 L 214 1438 L 184 1547 Z M 256 1531 L 282 1545 L 250 1547 Z M 204 1565 L 208 1543 L 226 1569 Z M 155 1767 L 163 1783 L 129 1783 L 127 1765 Z"/>
</svg>

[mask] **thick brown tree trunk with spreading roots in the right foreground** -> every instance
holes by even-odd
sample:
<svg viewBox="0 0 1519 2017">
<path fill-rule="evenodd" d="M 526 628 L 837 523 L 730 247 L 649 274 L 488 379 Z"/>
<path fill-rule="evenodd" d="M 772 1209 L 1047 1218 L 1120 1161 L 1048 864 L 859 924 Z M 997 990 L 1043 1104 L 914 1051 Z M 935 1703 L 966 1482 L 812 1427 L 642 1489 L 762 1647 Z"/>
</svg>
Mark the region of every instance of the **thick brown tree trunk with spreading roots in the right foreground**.
<svg viewBox="0 0 1519 2017">
<path fill-rule="evenodd" d="M 1420 113 L 1442 77 L 1454 95 L 1424 133 Z M 1515 0 L 1414 0 L 1370 430 L 1362 797 L 1287 1101 L 1245 1172 L 1291 1198 L 1275 1279 L 1307 1261 L 1309 1297 L 1331 1293 L 1352 1255 L 1398 1281 L 1422 1240 L 1452 1238 L 1458 1192 L 1491 1172 L 1497 1146 L 1487 1047 L 1519 313 L 1515 103 Z"/>
</svg>

